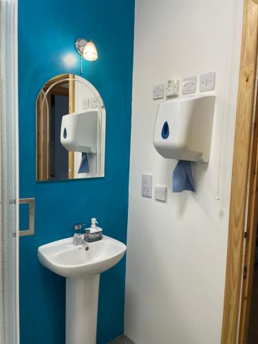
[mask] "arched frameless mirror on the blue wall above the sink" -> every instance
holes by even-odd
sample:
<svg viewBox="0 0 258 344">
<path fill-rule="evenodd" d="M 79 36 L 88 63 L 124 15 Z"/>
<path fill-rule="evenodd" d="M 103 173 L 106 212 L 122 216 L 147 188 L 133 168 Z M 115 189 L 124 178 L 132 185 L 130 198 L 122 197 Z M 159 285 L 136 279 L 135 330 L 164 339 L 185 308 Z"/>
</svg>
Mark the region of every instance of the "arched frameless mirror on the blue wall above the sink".
<svg viewBox="0 0 258 344">
<path fill-rule="evenodd" d="M 36 180 L 104 177 L 103 99 L 81 76 L 61 74 L 36 100 Z"/>
</svg>

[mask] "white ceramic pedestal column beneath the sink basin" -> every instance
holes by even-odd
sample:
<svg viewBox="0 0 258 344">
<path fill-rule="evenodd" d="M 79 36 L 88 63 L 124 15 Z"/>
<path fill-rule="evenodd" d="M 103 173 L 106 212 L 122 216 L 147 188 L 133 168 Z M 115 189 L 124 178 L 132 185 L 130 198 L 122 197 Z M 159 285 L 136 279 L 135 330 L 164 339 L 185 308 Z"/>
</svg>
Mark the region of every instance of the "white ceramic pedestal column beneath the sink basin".
<svg viewBox="0 0 258 344">
<path fill-rule="evenodd" d="M 96 344 L 100 275 L 66 279 L 66 344 Z"/>
</svg>

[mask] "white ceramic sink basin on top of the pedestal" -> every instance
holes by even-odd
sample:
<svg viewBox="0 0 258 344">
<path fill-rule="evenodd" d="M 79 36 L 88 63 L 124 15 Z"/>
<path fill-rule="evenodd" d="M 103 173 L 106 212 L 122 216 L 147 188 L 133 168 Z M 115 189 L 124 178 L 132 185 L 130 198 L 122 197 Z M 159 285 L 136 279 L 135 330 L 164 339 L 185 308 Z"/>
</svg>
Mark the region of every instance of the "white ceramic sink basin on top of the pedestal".
<svg viewBox="0 0 258 344">
<path fill-rule="evenodd" d="M 85 248 L 88 247 L 88 250 Z M 63 277 L 100 274 L 116 265 L 125 255 L 122 242 L 103 235 L 100 241 L 74 246 L 73 238 L 54 241 L 39 247 L 39 261 L 45 268 Z"/>
</svg>

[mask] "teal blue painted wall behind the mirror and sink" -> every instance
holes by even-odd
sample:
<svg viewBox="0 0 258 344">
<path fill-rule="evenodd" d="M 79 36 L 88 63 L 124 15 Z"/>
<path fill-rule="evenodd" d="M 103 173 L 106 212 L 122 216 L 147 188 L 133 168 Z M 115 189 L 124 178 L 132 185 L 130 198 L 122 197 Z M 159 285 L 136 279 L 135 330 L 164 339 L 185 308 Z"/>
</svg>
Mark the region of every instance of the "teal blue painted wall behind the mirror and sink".
<svg viewBox="0 0 258 344">
<path fill-rule="evenodd" d="M 96 216 L 104 232 L 125 242 L 131 132 L 133 0 L 19 1 L 20 197 L 35 197 L 33 237 L 20 241 L 21 344 L 65 343 L 65 279 L 42 268 L 37 248 L 72 235 L 72 224 Z M 35 101 L 61 73 L 79 74 L 78 37 L 94 39 L 99 59 L 83 76 L 107 109 L 105 178 L 36 182 Z M 63 58 L 73 54 L 74 67 Z M 123 332 L 125 258 L 100 278 L 98 343 Z"/>
</svg>

